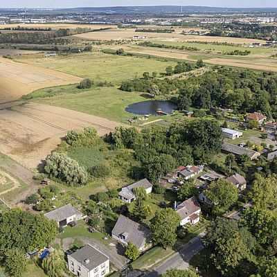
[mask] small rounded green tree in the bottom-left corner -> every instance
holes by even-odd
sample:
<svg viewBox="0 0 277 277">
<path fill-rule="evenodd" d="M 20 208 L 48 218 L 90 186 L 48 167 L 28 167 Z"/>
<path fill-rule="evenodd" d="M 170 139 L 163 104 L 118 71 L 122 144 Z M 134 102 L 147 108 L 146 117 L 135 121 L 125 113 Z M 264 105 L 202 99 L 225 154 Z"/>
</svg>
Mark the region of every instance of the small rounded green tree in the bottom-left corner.
<svg viewBox="0 0 277 277">
<path fill-rule="evenodd" d="M 8 249 L 5 253 L 4 266 L 12 277 L 21 277 L 27 267 L 24 251 L 18 248 Z"/>
</svg>

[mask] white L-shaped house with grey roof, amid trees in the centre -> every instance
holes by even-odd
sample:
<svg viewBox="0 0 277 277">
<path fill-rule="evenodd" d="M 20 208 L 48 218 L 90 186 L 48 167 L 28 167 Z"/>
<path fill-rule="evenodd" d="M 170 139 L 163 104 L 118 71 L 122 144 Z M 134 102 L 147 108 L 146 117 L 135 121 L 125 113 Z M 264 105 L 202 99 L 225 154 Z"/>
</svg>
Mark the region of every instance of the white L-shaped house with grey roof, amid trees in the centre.
<svg viewBox="0 0 277 277">
<path fill-rule="evenodd" d="M 146 193 L 149 194 L 152 192 L 152 184 L 148 179 L 142 179 L 140 181 L 135 182 L 129 186 L 125 186 L 121 188 L 120 192 L 118 193 L 118 198 L 127 202 L 132 203 L 136 199 L 136 195 L 134 195 L 134 188 L 143 187 L 146 190 Z"/>
</svg>

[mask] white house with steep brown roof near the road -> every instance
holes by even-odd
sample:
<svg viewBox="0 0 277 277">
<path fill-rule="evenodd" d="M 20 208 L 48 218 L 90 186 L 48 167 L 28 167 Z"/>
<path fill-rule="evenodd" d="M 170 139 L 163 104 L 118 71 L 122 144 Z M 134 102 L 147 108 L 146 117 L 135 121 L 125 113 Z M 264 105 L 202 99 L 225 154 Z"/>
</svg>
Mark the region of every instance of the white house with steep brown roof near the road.
<svg viewBox="0 0 277 277">
<path fill-rule="evenodd" d="M 201 207 L 195 196 L 187 199 L 175 207 L 176 213 L 180 215 L 180 225 L 197 224 L 200 220 Z"/>
</svg>

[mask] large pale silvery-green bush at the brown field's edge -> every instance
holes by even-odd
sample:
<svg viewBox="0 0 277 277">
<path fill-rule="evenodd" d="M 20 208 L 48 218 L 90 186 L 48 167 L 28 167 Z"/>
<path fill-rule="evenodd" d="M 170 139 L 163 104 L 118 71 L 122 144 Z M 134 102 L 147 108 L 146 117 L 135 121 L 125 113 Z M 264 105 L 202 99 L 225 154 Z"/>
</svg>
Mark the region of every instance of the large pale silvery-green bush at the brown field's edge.
<svg viewBox="0 0 277 277">
<path fill-rule="evenodd" d="M 86 184 L 89 178 L 87 171 L 77 161 L 57 152 L 48 155 L 44 170 L 69 186 Z"/>
</svg>

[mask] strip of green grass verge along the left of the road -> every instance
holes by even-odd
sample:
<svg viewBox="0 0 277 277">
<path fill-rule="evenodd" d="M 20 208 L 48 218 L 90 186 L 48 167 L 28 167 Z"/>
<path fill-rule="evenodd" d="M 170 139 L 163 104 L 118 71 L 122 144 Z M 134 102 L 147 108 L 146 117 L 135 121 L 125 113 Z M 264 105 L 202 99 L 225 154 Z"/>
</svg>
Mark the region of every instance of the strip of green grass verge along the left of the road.
<svg viewBox="0 0 277 277">
<path fill-rule="evenodd" d="M 160 247 L 153 247 L 137 260 L 132 262 L 131 266 L 133 269 L 150 269 L 159 261 L 170 256 L 172 253 L 175 252 L 171 248 L 165 250 Z"/>
</svg>

